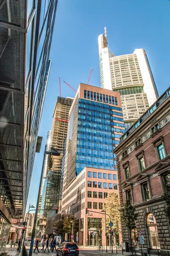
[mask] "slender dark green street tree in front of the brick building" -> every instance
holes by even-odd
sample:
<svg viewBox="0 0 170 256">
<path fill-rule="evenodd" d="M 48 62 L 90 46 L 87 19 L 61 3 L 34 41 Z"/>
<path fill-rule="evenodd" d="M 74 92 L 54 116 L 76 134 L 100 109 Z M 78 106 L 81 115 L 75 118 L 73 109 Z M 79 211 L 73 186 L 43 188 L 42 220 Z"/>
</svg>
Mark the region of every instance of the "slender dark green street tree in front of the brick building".
<svg viewBox="0 0 170 256">
<path fill-rule="evenodd" d="M 124 209 L 122 210 L 122 218 L 125 222 L 125 226 L 130 231 L 130 244 L 131 244 L 131 251 L 133 254 L 131 230 L 136 228 L 136 220 L 138 218 L 138 213 L 135 212 L 135 208 L 131 205 L 130 200 L 126 200 L 126 203 L 124 204 Z"/>
</svg>

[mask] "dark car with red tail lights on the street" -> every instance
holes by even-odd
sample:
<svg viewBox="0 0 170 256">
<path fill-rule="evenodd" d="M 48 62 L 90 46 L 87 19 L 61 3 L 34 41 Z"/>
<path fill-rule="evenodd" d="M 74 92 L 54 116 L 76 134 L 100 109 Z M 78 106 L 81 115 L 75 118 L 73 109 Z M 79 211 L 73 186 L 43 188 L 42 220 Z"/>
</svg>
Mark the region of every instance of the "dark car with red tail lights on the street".
<svg viewBox="0 0 170 256">
<path fill-rule="evenodd" d="M 57 248 L 57 256 L 78 256 L 79 247 L 76 243 L 62 243 Z"/>
</svg>

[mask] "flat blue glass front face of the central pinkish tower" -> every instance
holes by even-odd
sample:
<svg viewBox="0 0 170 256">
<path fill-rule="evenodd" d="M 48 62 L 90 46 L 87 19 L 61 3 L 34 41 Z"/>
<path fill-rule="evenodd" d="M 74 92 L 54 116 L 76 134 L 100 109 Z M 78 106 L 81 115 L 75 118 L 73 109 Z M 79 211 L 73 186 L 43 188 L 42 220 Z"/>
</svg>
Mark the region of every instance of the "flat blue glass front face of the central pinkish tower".
<svg viewBox="0 0 170 256">
<path fill-rule="evenodd" d="M 87 167 L 114 169 L 109 105 L 79 99 L 76 176 Z"/>
</svg>

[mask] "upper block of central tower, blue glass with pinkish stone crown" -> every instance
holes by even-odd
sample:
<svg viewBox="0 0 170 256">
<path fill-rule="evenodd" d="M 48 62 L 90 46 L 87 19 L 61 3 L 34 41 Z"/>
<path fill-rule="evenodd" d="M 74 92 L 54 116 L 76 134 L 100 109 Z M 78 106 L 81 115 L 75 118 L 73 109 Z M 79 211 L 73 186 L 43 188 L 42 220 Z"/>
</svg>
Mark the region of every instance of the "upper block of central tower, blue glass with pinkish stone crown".
<svg viewBox="0 0 170 256">
<path fill-rule="evenodd" d="M 64 188 L 86 167 L 116 169 L 124 132 L 120 94 L 80 84 L 69 113 Z"/>
</svg>

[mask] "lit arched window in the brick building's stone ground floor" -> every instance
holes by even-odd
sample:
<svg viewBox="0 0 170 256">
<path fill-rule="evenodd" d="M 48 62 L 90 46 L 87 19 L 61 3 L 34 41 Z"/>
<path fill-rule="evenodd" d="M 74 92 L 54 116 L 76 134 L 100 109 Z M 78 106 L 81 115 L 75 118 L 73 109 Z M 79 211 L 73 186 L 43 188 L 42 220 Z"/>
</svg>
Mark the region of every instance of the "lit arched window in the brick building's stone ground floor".
<svg viewBox="0 0 170 256">
<path fill-rule="evenodd" d="M 159 249 L 159 237 L 158 237 L 158 230 L 156 225 L 156 219 L 152 213 L 147 215 L 147 229 L 150 241 L 150 247 L 153 249 Z"/>
</svg>

